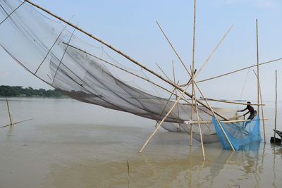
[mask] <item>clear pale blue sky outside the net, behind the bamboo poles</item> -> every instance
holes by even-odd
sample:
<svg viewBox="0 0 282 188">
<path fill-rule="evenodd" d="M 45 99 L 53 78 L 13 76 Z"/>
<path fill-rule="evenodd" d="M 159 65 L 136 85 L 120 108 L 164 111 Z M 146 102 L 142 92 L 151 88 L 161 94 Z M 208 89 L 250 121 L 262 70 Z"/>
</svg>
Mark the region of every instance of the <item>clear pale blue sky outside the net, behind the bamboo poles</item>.
<svg viewBox="0 0 282 188">
<path fill-rule="evenodd" d="M 171 61 L 175 61 L 177 80 L 181 83 L 189 79 L 155 21 L 160 23 L 185 64 L 191 65 L 193 0 L 33 2 L 66 20 L 73 16 L 72 23 L 78 23 L 79 27 L 158 73 L 155 63 L 171 75 Z M 198 0 L 195 68 L 201 67 L 231 25 L 233 29 L 196 80 L 257 63 L 256 19 L 259 23 L 259 62 L 282 58 L 281 18 L 282 1 L 279 0 Z M 27 73 L 3 49 L 0 49 L 0 56 L 0 85 L 50 88 Z M 257 82 L 253 70 L 256 68 L 202 82 L 200 87 L 209 98 L 254 101 Z M 282 92 L 282 61 L 262 65 L 259 70 L 263 99 L 274 101 L 275 70 L 278 70 L 278 94 Z M 279 96 L 281 94 L 278 100 Z"/>
</svg>

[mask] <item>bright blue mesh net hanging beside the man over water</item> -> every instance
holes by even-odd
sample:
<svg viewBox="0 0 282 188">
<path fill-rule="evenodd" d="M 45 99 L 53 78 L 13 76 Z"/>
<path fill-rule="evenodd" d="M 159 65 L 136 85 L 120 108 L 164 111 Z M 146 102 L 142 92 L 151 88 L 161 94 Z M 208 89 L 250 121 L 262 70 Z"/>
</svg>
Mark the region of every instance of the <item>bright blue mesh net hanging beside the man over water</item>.
<svg viewBox="0 0 282 188">
<path fill-rule="evenodd" d="M 226 136 L 223 134 L 221 127 L 219 127 L 219 123 L 217 123 L 214 117 L 212 122 L 214 123 L 216 133 L 219 136 L 223 148 L 231 149 Z M 259 129 L 259 116 L 246 122 L 220 124 L 235 150 L 254 150 L 253 146 L 257 146 L 257 144 L 253 143 L 262 140 Z"/>
</svg>

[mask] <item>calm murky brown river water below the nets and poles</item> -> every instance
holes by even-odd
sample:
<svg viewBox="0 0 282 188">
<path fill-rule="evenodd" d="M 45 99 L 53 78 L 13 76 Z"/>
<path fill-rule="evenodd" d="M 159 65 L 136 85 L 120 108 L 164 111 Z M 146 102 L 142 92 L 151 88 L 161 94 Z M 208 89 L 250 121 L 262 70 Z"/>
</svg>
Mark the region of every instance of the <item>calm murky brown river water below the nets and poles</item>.
<svg viewBox="0 0 282 188">
<path fill-rule="evenodd" d="M 282 187 L 282 149 L 269 144 L 274 103 L 266 105 L 259 151 L 206 144 L 203 161 L 198 142 L 190 147 L 187 134 L 165 130 L 138 153 L 152 120 L 72 99 L 12 98 L 13 120 L 33 120 L 0 129 L 0 187 Z"/>
</svg>

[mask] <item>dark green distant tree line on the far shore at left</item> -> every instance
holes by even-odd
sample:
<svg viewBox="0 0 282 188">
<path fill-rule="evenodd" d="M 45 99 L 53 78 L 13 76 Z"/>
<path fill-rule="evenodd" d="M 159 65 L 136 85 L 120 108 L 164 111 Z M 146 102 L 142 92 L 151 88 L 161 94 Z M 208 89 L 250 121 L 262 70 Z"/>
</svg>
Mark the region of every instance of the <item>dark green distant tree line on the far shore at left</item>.
<svg viewBox="0 0 282 188">
<path fill-rule="evenodd" d="M 0 96 L 44 96 L 61 97 L 64 96 L 56 89 L 32 89 L 32 87 L 23 88 L 23 86 L 0 86 Z"/>
</svg>

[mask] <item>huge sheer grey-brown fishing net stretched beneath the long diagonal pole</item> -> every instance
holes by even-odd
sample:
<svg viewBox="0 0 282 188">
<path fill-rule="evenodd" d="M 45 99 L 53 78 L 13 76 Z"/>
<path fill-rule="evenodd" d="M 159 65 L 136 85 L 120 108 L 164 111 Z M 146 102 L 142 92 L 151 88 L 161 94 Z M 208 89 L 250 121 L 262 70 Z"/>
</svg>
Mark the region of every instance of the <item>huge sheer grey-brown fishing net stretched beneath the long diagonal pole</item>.
<svg viewBox="0 0 282 188">
<path fill-rule="evenodd" d="M 171 109 L 175 96 L 169 92 L 173 91 L 170 85 L 47 13 L 30 4 L 20 4 L 22 1 L 18 0 L 0 1 L 0 19 L 8 17 L 0 25 L 0 44 L 29 73 L 85 103 L 157 121 Z M 201 120 L 211 120 L 207 108 L 198 108 Z M 235 115 L 235 111 L 214 110 L 226 117 Z M 191 105 L 180 101 L 163 127 L 190 133 L 189 125 L 183 124 L 190 118 Z M 196 112 L 192 119 L 197 120 Z M 193 137 L 200 140 L 198 130 L 194 128 L 193 132 Z M 202 125 L 202 132 L 207 142 L 218 141 L 212 124 Z"/>
</svg>

